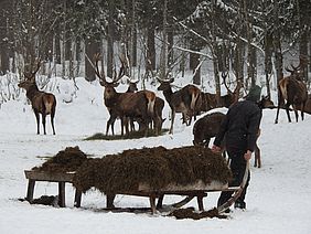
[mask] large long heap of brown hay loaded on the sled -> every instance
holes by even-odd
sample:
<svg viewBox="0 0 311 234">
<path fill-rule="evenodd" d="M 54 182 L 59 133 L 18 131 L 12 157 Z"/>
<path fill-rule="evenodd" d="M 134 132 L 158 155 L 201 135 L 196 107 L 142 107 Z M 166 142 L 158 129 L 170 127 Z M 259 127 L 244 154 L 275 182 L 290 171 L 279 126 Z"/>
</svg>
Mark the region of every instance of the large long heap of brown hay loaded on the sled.
<svg viewBox="0 0 311 234">
<path fill-rule="evenodd" d="M 230 178 L 224 158 L 208 148 L 154 147 L 88 159 L 77 169 L 73 183 L 83 192 L 94 187 L 109 194 L 136 192 L 140 183 L 158 190 L 169 184 L 192 184 L 197 180 L 206 184 L 212 181 L 227 183 Z"/>
</svg>

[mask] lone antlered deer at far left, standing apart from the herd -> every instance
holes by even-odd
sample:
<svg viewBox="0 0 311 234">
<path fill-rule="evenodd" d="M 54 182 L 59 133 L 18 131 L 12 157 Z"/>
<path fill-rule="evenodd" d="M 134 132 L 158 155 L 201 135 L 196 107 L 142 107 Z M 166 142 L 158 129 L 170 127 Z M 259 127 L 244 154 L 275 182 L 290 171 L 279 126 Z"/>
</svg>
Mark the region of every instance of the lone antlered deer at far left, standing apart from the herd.
<svg viewBox="0 0 311 234">
<path fill-rule="evenodd" d="M 25 81 L 20 82 L 18 86 L 26 91 L 26 97 L 31 102 L 31 106 L 36 118 L 36 134 L 40 135 L 40 114 L 41 114 L 44 135 L 46 135 L 46 130 L 45 130 L 46 115 L 51 115 L 51 125 L 53 129 L 53 135 L 55 135 L 54 116 L 56 109 L 56 98 L 51 93 L 39 91 L 35 84 L 35 74 L 39 71 L 39 68 L 40 68 L 40 62 L 37 63 L 36 70 L 34 72 L 24 73 Z"/>
</svg>

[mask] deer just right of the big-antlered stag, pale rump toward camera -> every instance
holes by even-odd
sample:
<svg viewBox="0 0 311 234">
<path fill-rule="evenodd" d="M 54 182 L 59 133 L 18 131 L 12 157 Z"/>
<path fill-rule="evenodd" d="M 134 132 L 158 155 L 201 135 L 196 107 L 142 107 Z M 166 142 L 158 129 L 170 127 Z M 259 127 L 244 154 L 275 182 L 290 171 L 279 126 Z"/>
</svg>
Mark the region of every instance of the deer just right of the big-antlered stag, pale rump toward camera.
<svg viewBox="0 0 311 234">
<path fill-rule="evenodd" d="M 170 134 L 173 132 L 173 125 L 174 125 L 174 118 L 175 113 L 182 113 L 183 120 L 186 123 L 186 125 L 191 124 L 192 116 L 195 117 L 195 114 L 197 113 L 196 106 L 197 102 L 201 102 L 201 91 L 200 88 L 195 87 L 194 85 L 186 85 L 182 89 L 178 92 L 172 92 L 171 83 L 174 82 L 173 78 L 169 81 L 161 81 L 160 86 L 158 87 L 158 91 L 162 91 L 163 95 L 169 103 L 172 116 L 171 116 L 171 127 L 170 127 Z"/>
</svg>

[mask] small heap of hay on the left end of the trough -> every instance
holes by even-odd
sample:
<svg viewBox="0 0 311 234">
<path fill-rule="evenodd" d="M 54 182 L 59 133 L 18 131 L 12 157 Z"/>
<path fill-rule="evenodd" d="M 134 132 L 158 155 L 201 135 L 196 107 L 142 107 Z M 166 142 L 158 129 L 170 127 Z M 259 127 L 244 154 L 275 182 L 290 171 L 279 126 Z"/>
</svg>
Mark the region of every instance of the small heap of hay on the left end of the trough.
<svg viewBox="0 0 311 234">
<path fill-rule="evenodd" d="M 67 147 L 65 150 L 57 152 L 56 156 L 49 159 L 41 167 L 34 167 L 32 170 L 45 172 L 76 171 L 86 159 L 87 156 L 81 151 L 78 147 Z"/>
</svg>

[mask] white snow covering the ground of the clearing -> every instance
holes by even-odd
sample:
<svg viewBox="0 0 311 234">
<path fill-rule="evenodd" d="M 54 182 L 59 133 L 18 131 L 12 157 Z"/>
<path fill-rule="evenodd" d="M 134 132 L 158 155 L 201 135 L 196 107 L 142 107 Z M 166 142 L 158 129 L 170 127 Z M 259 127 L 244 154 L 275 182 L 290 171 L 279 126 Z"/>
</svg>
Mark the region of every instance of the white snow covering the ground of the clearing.
<svg viewBox="0 0 311 234">
<path fill-rule="evenodd" d="M 57 86 L 58 85 L 58 86 Z M 74 188 L 66 185 L 66 208 L 31 205 L 18 199 L 25 196 L 28 181 L 24 170 L 42 164 L 46 157 L 66 147 L 78 146 L 92 157 L 120 152 L 129 148 L 164 146 L 174 148 L 192 145 L 192 126 L 175 119 L 174 134 L 152 138 L 116 141 L 86 141 L 96 132 L 104 132 L 108 113 L 103 104 L 103 87 L 98 82 L 87 83 L 77 78 L 78 89 L 71 81 L 57 79 L 55 117 L 56 136 L 53 136 L 50 117 L 47 135 L 37 136 L 35 118 L 26 104 L 24 93 L 19 99 L 9 100 L 0 108 L 0 233 L 296 233 L 311 232 L 311 117 L 304 121 L 287 121 L 280 111 L 275 125 L 276 110 L 264 110 L 261 121 L 262 168 L 254 168 L 246 198 L 247 210 L 233 210 L 226 220 L 175 220 L 158 213 L 112 213 L 103 211 L 106 198 L 98 191 L 89 191 L 82 198 L 82 208 L 73 204 Z M 156 91 L 156 87 L 150 87 Z M 118 87 L 126 89 L 126 86 Z M 61 93 L 60 93 L 61 92 Z M 159 94 L 162 96 L 162 94 Z M 67 103 L 66 103 L 67 102 Z M 68 103 L 69 102 L 69 103 Z M 225 108 L 219 109 L 226 111 Z M 169 107 L 165 104 L 164 127 L 169 128 Z M 292 114 L 293 117 L 293 114 Z M 119 132 L 119 120 L 116 123 Z M 42 130 L 41 130 L 42 131 Z M 253 159 L 254 160 L 254 159 Z M 56 183 L 37 182 L 34 198 L 55 195 Z M 216 205 L 219 192 L 208 193 L 204 206 Z M 164 203 L 181 200 L 168 196 Z M 147 198 L 118 195 L 117 206 L 148 206 Z M 197 210 L 192 201 L 187 205 Z"/>
</svg>

